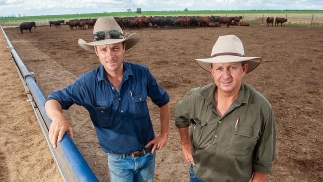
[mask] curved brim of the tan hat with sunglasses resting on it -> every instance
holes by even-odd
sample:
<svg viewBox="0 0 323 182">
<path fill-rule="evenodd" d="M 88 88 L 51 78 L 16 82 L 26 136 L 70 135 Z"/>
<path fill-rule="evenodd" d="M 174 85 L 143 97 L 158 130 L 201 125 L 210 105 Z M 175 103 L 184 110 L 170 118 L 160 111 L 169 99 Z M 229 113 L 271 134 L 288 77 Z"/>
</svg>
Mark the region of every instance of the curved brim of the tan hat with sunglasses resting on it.
<svg viewBox="0 0 323 182">
<path fill-rule="evenodd" d="M 126 50 L 132 48 L 139 42 L 140 36 L 137 33 L 133 33 L 126 37 L 125 39 L 104 39 L 99 41 L 93 41 L 93 42 L 85 42 L 83 39 L 79 39 L 79 45 L 81 48 L 90 51 L 94 51 L 94 46 L 98 45 L 107 45 L 107 44 L 116 44 L 119 42 L 125 42 L 126 43 Z"/>
</svg>

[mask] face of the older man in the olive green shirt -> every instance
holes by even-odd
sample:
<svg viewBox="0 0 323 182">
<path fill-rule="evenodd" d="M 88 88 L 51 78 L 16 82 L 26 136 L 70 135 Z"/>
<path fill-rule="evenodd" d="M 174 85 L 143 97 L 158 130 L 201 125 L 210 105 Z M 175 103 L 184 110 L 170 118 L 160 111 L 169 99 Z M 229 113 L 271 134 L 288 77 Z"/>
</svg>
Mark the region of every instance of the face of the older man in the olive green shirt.
<svg viewBox="0 0 323 182">
<path fill-rule="evenodd" d="M 242 78 L 247 69 L 248 64 L 242 66 L 241 62 L 213 63 L 213 68 L 210 67 L 210 72 L 219 91 L 232 95 L 239 92 Z"/>
</svg>

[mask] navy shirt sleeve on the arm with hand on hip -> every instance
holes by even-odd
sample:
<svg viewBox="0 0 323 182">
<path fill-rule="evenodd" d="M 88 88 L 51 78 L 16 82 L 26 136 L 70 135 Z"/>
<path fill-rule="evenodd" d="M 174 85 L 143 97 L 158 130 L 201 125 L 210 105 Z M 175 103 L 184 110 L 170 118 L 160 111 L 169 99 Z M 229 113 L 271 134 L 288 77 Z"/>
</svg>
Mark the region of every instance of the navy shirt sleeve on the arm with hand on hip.
<svg viewBox="0 0 323 182">
<path fill-rule="evenodd" d="M 164 91 L 161 86 L 157 83 L 154 76 L 150 73 L 147 68 L 147 92 L 151 97 L 152 101 L 159 107 L 165 105 L 169 102 L 169 96 L 166 91 Z"/>
</svg>

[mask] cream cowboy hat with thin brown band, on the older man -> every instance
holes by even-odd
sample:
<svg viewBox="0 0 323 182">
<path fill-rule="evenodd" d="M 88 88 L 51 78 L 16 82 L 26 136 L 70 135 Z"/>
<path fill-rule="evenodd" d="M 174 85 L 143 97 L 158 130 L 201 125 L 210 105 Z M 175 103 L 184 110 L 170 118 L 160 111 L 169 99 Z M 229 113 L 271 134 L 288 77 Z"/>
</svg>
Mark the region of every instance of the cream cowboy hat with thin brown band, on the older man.
<svg viewBox="0 0 323 182">
<path fill-rule="evenodd" d="M 248 64 L 246 73 L 254 70 L 261 62 L 259 57 L 244 57 L 244 49 L 241 40 L 236 35 L 220 36 L 214 44 L 211 58 L 195 59 L 203 69 L 210 72 L 211 63 L 242 62 Z"/>
</svg>

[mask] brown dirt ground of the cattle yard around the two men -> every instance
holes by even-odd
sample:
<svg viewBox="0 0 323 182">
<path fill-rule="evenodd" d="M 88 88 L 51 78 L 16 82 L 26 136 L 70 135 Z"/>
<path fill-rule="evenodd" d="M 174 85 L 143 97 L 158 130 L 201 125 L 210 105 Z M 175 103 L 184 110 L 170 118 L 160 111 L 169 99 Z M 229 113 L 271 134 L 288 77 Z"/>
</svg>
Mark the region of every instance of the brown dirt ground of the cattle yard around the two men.
<svg viewBox="0 0 323 182">
<path fill-rule="evenodd" d="M 99 66 L 96 55 L 84 51 L 77 43 L 79 38 L 90 41 L 92 31 L 92 29 L 72 31 L 67 26 L 37 27 L 32 29 L 32 33 L 24 31 L 24 34 L 21 34 L 17 28 L 5 29 L 29 71 L 36 74 L 37 83 L 45 96 L 50 91 L 72 84 L 83 73 Z M 231 26 L 175 30 L 145 28 L 127 32 L 138 33 L 141 40 L 125 53 L 125 61 L 148 66 L 171 98 L 169 138 L 166 147 L 158 151 L 155 181 L 189 180 L 189 164 L 182 156 L 180 138 L 174 124 L 174 106 L 191 88 L 212 83 L 211 75 L 202 70 L 194 58 L 210 57 L 218 36 L 227 34 L 237 35 L 242 40 L 245 56 L 263 58 L 260 66 L 244 77 L 244 82 L 262 93 L 271 103 L 275 113 L 276 158 L 268 181 L 323 181 L 323 29 Z M 5 82 L 3 79 L 5 75 L 2 74 L 0 77 L 1 82 Z M 20 87 L 21 84 L 15 82 L 12 85 Z M 1 89 L 7 92 L 12 90 L 6 85 Z M 25 99 L 21 97 L 21 100 Z M 151 102 L 149 107 L 154 129 L 159 133 L 158 107 Z M 32 115 L 31 112 L 28 107 L 25 114 Z M 87 111 L 75 105 L 65 111 L 65 115 L 74 128 L 75 143 L 84 159 L 100 181 L 109 181 L 106 154 L 97 143 Z M 9 116 L 12 120 L 19 118 L 14 113 Z M 42 143 L 45 143 L 39 129 L 34 125 L 30 127 L 33 132 L 37 130 L 38 137 L 32 140 L 39 142 L 43 140 Z M 0 127 L 2 131 L 7 127 L 17 129 L 21 126 L 1 123 Z M 19 130 L 28 128 L 29 126 L 23 126 L 23 129 Z M 14 138 L 15 135 L 16 133 L 1 133 L 1 137 L 5 138 Z M 18 147 L 24 151 L 23 155 L 27 158 L 33 158 L 48 150 L 45 144 L 35 150 L 20 145 L 23 142 L 19 139 L 15 142 L 19 143 Z M 14 143 L 7 144 L 7 148 L 8 146 L 17 147 Z M 3 158 L 12 157 L 10 153 L 0 151 L 1 161 Z M 47 153 L 50 156 L 50 153 Z M 16 155 L 20 154 L 13 156 Z M 47 160 L 48 156 L 46 155 L 44 160 Z M 25 160 L 21 157 L 21 161 L 13 162 L 21 166 Z M 6 163 L 1 165 L 6 166 L 7 171 L 19 174 L 13 169 L 16 168 L 15 165 L 8 165 L 8 160 L 4 162 Z M 37 164 L 22 165 L 31 173 L 36 173 L 34 172 L 37 170 L 36 166 Z M 40 176 L 36 181 L 47 181 L 46 176 L 44 179 L 42 177 L 54 166 L 53 162 L 46 165 L 46 169 L 38 172 Z M 5 180 L 14 181 L 8 173 L 3 175 Z M 53 174 L 53 179 L 59 178 L 57 173 Z"/>
</svg>

